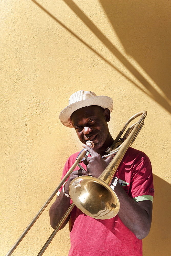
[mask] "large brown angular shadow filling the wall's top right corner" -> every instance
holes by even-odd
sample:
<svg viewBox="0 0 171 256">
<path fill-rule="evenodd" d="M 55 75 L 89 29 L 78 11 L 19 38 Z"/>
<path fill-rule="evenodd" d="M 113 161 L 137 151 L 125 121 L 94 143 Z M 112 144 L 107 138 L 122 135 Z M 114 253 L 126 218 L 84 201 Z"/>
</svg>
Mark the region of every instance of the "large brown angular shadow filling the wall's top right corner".
<svg viewBox="0 0 171 256">
<path fill-rule="evenodd" d="M 99 1 L 127 55 L 139 63 L 171 100 L 171 2 Z"/>
</svg>

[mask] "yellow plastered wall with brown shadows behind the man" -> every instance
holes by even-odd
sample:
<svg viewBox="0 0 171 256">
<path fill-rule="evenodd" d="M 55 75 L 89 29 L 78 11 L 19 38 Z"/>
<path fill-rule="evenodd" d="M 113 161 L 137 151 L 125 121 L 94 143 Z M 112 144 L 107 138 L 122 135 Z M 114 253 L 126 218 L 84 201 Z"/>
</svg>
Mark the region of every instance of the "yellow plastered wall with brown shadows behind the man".
<svg viewBox="0 0 171 256">
<path fill-rule="evenodd" d="M 113 137 L 147 110 L 134 147 L 151 159 L 154 210 L 144 256 L 170 253 L 169 1 L 1 1 L 1 237 L 5 255 L 81 149 L 59 122 L 78 90 L 114 101 Z M 52 232 L 48 209 L 13 255 L 37 255 Z M 44 255 L 67 256 L 68 226 Z"/>
</svg>

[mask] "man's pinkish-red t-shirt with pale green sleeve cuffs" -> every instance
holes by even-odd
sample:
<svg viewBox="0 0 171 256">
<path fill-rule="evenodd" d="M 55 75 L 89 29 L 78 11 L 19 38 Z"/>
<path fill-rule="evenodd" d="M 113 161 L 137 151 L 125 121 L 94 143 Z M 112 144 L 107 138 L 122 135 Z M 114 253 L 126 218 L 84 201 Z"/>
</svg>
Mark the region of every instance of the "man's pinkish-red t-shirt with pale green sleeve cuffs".
<svg viewBox="0 0 171 256">
<path fill-rule="evenodd" d="M 68 158 L 62 178 L 77 156 L 78 152 Z M 86 169 L 83 163 L 81 165 Z M 133 200 L 153 200 L 151 163 L 143 152 L 129 147 L 115 176 Z M 68 256 L 142 256 L 142 240 L 136 238 L 118 215 L 112 219 L 98 220 L 87 216 L 75 206 L 70 216 L 71 248 Z"/>
</svg>

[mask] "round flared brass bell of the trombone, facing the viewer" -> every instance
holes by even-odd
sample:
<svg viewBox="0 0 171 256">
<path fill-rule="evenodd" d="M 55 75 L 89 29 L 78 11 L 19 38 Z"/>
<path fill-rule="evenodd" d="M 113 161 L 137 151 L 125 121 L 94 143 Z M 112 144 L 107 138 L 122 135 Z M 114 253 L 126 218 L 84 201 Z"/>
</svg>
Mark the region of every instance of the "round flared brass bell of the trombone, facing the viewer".
<svg viewBox="0 0 171 256">
<path fill-rule="evenodd" d="M 115 192 L 95 177 L 81 176 L 73 179 L 69 194 L 82 212 L 95 219 L 111 219 L 120 208 Z"/>
</svg>

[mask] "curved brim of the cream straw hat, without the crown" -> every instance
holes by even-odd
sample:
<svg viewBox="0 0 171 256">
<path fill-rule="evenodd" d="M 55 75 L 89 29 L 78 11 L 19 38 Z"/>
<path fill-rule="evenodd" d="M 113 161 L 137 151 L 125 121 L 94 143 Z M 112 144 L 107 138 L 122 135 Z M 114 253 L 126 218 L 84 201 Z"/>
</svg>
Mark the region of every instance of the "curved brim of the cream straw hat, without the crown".
<svg viewBox="0 0 171 256">
<path fill-rule="evenodd" d="M 109 109 L 110 112 L 112 112 L 113 100 L 108 96 L 95 96 L 86 100 L 74 102 L 60 112 L 59 120 L 63 125 L 74 128 L 70 118 L 72 113 L 77 109 L 92 105 L 100 106 L 103 109 Z"/>
</svg>

